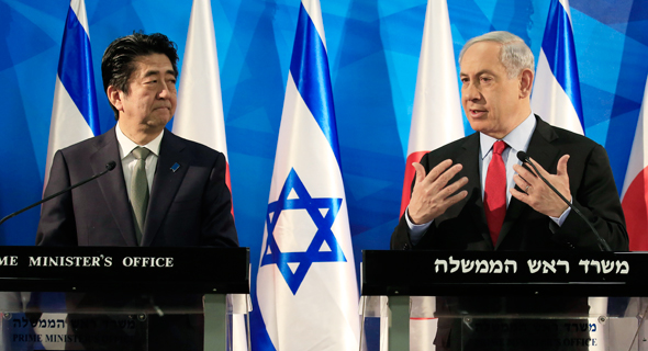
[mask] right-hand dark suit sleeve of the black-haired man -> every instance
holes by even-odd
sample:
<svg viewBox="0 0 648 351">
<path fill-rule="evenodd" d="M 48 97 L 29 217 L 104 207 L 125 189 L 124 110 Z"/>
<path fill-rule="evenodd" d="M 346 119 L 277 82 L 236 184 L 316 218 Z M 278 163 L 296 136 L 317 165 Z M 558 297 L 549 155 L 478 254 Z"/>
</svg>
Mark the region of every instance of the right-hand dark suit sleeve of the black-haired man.
<svg viewBox="0 0 648 351">
<path fill-rule="evenodd" d="M 201 211 L 201 246 L 223 248 L 238 247 L 238 236 L 232 215 L 232 193 L 225 183 L 227 162 L 225 156 L 219 157 L 212 168 L 205 190 L 205 201 Z"/>
</svg>

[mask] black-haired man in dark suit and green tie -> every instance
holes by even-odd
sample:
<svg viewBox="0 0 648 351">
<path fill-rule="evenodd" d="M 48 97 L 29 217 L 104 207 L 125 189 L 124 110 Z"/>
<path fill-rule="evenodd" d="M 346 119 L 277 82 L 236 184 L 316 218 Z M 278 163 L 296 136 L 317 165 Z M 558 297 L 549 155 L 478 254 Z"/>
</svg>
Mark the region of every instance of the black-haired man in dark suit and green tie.
<svg viewBox="0 0 648 351">
<path fill-rule="evenodd" d="M 58 150 L 45 195 L 101 172 L 110 161 L 116 168 L 46 202 L 37 245 L 238 246 L 223 154 L 165 129 L 176 110 L 177 60 L 176 44 L 159 33 L 134 33 L 109 45 L 101 71 L 118 123 Z M 89 301 L 120 305 L 130 296 L 86 296 L 80 304 Z M 202 310 L 200 297 L 187 303 Z M 149 349 L 202 350 L 201 318 L 168 319 L 150 319 Z"/>
</svg>

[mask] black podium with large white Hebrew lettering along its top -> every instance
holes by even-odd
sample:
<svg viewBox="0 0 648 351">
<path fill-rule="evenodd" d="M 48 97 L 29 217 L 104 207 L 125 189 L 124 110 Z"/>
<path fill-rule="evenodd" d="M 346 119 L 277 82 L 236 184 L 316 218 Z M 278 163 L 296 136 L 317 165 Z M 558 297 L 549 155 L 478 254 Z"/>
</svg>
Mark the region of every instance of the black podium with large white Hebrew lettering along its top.
<svg viewBox="0 0 648 351">
<path fill-rule="evenodd" d="M 361 350 L 648 350 L 647 271 L 643 252 L 364 251 Z"/>
</svg>

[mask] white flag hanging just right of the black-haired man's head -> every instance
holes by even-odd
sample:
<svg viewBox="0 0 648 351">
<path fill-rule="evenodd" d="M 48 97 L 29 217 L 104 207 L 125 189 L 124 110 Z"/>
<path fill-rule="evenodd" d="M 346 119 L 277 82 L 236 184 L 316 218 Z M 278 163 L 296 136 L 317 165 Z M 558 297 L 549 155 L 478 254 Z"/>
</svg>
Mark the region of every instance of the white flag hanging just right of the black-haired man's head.
<svg viewBox="0 0 648 351">
<path fill-rule="evenodd" d="M 219 54 L 209 0 L 194 0 L 191 7 L 178 94 L 174 133 L 225 155 L 225 182 L 231 191 Z"/>
</svg>

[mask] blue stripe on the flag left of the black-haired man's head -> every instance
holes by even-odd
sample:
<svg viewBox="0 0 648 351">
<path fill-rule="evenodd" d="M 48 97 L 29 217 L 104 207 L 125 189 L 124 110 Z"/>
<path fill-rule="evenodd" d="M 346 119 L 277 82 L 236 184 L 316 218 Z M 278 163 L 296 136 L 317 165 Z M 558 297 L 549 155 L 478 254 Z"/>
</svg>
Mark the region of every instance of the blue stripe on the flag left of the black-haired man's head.
<svg viewBox="0 0 648 351">
<path fill-rule="evenodd" d="M 92 134 L 101 134 L 90 38 L 71 8 L 68 9 L 63 33 L 58 77 L 77 109 L 86 118 Z"/>
</svg>

